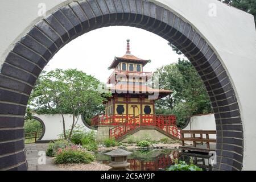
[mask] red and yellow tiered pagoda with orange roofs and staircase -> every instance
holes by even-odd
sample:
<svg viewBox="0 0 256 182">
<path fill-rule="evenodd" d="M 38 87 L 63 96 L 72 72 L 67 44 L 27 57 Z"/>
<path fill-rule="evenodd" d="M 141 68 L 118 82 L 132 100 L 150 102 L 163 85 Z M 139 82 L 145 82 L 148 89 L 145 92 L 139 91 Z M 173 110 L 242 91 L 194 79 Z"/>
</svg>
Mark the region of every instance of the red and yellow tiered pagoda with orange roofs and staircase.
<svg viewBox="0 0 256 182">
<path fill-rule="evenodd" d="M 97 127 L 98 140 L 108 137 L 124 140 L 142 129 L 157 130 L 162 137 L 179 138 L 175 115 L 155 114 L 155 101 L 172 90 L 149 86 L 154 85 L 151 84 L 153 75 L 144 72 L 144 66 L 150 62 L 132 55 L 127 39 L 126 54 L 115 57 L 109 67 L 113 73 L 107 82 L 111 96 L 104 102 L 105 113 L 91 119 L 92 126 Z"/>
</svg>

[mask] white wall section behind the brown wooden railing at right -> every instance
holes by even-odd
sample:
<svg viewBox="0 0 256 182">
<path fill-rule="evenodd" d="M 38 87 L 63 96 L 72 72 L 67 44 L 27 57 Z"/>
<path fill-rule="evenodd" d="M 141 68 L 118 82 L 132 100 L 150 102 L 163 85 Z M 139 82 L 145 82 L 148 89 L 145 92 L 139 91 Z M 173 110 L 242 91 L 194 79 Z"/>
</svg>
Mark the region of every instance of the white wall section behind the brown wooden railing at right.
<svg viewBox="0 0 256 182">
<path fill-rule="evenodd" d="M 188 126 L 183 130 L 216 130 L 214 114 L 192 116 Z M 184 137 L 190 137 L 190 134 L 185 134 Z M 209 135 L 209 138 L 216 138 L 216 135 Z"/>
</svg>

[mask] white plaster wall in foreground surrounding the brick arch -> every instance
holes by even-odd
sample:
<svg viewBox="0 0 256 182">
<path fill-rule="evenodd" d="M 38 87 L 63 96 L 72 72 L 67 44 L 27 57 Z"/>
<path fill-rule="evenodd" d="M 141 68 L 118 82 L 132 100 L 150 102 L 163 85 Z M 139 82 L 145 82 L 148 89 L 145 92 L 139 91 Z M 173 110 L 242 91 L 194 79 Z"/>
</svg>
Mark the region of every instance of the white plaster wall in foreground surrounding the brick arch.
<svg viewBox="0 0 256 182">
<path fill-rule="evenodd" d="M 150 1 L 190 22 L 218 53 L 233 82 L 240 105 L 245 138 L 243 169 L 255 169 L 256 34 L 253 16 L 217 0 Z M 41 19 L 38 17 L 38 5 L 42 2 L 46 3 L 48 15 L 72 0 L 0 1 L 0 64 L 14 44 Z M 214 3 L 212 7 L 216 9 L 216 16 L 209 16 L 211 3 Z"/>
</svg>

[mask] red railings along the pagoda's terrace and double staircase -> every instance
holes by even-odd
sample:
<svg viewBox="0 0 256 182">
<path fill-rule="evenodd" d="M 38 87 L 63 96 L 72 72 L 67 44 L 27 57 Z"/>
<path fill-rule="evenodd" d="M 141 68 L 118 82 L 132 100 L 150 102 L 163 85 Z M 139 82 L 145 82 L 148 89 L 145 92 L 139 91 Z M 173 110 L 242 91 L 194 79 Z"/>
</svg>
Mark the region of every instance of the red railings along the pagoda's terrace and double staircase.
<svg viewBox="0 0 256 182">
<path fill-rule="evenodd" d="M 93 127 L 113 126 L 109 137 L 122 140 L 142 128 L 154 127 L 159 132 L 174 139 L 180 139 L 180 129 L 176 126 L 175 115 L 139 114 L 134 115 L 97 115 L 91 119 Z"/>
</svg>

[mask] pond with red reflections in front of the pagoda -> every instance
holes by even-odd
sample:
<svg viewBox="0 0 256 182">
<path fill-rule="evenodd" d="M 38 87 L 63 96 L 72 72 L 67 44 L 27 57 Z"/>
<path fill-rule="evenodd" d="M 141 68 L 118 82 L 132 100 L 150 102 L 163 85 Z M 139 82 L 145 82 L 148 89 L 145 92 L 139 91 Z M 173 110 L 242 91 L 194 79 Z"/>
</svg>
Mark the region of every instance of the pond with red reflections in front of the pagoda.
<svg viewBox="0 0 256 182">
<path fill-rule="evenodd" d="M 154 149 L 154 150 L 129 150 L 133 154 L 128 156 L 128 162 L 131 164 L 129 169 L 132 171 L 162 171 L 174 165 L 173 159 L 185 160 L 189 163 L 190 157 L 181 155 L 176 149 Z M 104 155 L 109 151 L 97 152 L 96 160 L 104 164 L 109 164 L 110 157 Z M 172 156 L 172 158 L 171 158 Z M 194 163 L 203 168 L 210 170 L 208 159 L 193 157 Z"/>
</svg>

